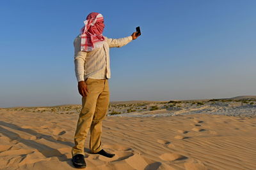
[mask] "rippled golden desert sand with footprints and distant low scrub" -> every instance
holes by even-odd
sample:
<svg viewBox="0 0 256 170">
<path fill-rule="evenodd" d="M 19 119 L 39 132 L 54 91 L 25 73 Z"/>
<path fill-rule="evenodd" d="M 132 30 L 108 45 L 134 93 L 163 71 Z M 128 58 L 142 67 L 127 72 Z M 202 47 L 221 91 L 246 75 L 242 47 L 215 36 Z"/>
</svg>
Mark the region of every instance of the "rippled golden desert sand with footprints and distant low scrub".
<svg viewBox="0 0 256 170">
<path fill-rule="evenodd" d="M 0 109 L 0 169 L 76 169 L 80 105 Z M 109 106 L 86 169 L 256 169 L 256 100 L 130 101 Z"/>
</svg>

